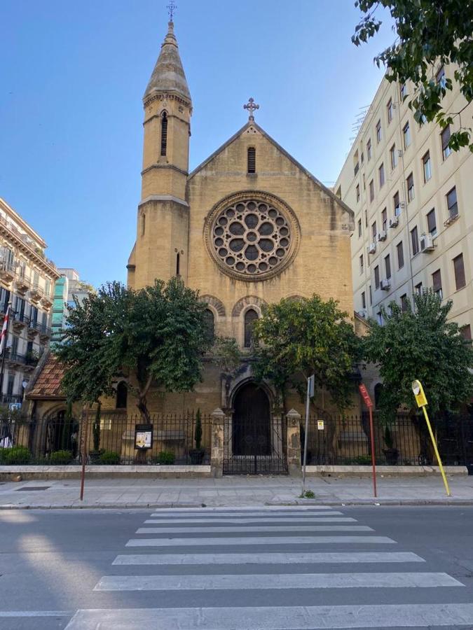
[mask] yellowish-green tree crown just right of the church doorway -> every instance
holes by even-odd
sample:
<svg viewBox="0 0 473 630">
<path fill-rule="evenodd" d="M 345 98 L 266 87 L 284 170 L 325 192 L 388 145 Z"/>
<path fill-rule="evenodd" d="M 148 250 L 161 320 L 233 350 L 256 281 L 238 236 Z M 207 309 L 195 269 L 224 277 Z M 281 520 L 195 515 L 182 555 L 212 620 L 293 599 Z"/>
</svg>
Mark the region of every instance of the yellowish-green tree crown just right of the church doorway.
<svg viewBox="0 0 473 630">
<path fill-rule="evenodd" d="M 318 295 L 270 304 L 254 323 L 254 373 L 273 381 L 283 402 L 296 379 L 315 374 L 317 386 L 327 388 L 343 409 L 350 404 L 353 367 L 361 358 L 347 318 L 336 300 L 324 302 Z"/>
</svg>

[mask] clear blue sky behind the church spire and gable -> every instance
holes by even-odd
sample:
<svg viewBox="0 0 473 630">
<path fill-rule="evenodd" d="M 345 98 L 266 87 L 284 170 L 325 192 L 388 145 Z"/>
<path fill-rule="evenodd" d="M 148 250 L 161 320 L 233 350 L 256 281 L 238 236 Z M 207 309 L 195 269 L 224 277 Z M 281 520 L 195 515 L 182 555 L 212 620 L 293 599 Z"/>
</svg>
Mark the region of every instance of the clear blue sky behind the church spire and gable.
<svg viewBox="0 0 473 630">
<path fill-rule="evenodd" d="M 135 241 L 142 95 L 167 29 L 166 0 L 1 3 L 0 196 L 48 243 L 48 258 L 96 286 L 125 280 Z M 331 186 L 352 123 L 383 71 L 389 20 L 355 48 L 353 0 L 177 0 L 193 99 L 196 167 L 256 121 Z"/>
</svg>

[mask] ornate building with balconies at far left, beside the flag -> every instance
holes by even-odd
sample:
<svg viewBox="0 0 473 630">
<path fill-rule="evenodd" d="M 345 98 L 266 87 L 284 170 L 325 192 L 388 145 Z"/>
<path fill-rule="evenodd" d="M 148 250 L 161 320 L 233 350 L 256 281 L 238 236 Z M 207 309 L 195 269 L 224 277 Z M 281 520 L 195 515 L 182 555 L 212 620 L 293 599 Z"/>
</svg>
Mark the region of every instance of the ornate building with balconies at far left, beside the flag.
<svg viewBox="0 0 473 630">
<path fill-rule="evenodd" d="M 51 336 L 50 309 L 59 274 L 46 243 L 0 197 L 0 317 L 11 318 L 0 377 L 0 402 L 22 402 L 23 392 Z M 0 320 L 1 321 L 1 320 Z"/>
</svg>

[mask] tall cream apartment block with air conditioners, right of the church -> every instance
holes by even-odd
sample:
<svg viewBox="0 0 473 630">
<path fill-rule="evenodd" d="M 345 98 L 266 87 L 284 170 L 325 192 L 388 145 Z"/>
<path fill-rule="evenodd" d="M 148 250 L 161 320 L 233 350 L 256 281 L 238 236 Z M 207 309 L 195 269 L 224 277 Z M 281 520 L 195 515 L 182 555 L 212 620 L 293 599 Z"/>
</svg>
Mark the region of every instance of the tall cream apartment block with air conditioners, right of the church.
<svg viewBox="0 0 473 630">
<path fill-rule="evenodd" d="M 442 104 L 471 125 L 473 103 L 467 106 L 453 71 L 437 69 L 436 80 L 448 77 L 454 86 Z M 355 211 L 355 311 L 382 323 L 383 304 L 403 305 L 432 288 L 453 301 L 450 318 L 471 338 L 473 154 L 448 148 L 458 116 L 445 130 L 416 123 L 411 90 L 383 79 L 336 181 L 336 193 Z"/>
</svg>

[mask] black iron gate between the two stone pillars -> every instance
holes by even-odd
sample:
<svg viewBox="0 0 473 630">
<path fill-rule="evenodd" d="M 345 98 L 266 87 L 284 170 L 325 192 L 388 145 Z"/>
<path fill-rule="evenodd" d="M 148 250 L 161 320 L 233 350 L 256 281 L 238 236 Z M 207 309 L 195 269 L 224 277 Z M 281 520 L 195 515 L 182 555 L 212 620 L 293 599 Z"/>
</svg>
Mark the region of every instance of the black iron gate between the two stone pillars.
<svg viewBox="0 0 473 630">
<path fill-rule="evenodd" d="M 224 475 L 287 475 L 286 419 L 227 416 Z"/>
</svg>

